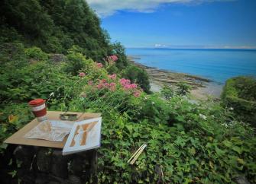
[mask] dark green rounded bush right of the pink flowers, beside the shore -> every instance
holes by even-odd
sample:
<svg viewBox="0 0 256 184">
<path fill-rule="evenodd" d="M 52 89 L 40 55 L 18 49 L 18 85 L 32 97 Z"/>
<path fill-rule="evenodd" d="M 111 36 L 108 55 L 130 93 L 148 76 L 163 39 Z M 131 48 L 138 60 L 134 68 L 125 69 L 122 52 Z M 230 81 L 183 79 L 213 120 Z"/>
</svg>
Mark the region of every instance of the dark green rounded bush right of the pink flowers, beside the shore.
<svg viewBox="0 0 256 184">
<path fill-rule="evenodd" d="M 139 84 L 139 86 L 146 92 L 150 93 L 150 84 L 148 80 L 148 76 L 146 71 L 144 71 L 141 68 L 138 68 L 138 66 L 135 65 L 129 65 L 125 70 L 123 71 L 122 76 L 124 78 L 128 78 L 131 80 L 131 82 Z"/>
</svg>

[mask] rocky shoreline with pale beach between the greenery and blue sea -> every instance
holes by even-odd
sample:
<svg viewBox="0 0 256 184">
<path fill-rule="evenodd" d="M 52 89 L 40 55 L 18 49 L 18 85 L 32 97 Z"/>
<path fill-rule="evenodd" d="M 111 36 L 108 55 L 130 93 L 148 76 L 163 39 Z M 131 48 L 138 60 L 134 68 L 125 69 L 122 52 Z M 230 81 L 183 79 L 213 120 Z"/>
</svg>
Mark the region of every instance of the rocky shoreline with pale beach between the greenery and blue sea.
<svg viewBox="0 0 256 184">
<path fill-rule="evenodd" d="M 184 81 L 192 87 L 190 94 L 193 100 L 207 100 L 209 97 L 219 99 L 220 97 L 222 85 L 207 78 L 142 65 L 136 62 L 140 59 L 138 56 L 128 56 L 128 59 L 147 72 L 152 92 L 160 92 L 165 84 L 176 89 L 177 83 Z"/>
</svg>

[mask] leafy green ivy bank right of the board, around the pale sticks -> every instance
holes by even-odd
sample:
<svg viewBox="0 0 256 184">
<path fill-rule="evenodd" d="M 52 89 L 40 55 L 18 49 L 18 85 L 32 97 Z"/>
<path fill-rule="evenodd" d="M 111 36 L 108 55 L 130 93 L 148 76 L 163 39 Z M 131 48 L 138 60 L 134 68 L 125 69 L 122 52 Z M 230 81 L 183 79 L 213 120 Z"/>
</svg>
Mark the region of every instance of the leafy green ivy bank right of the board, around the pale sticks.
<svg viewBox="0 0 256 184">
<path fill-rule="evenodd" d="M 155 99 L 147 100 L 152 103 Z M 254 182 L 251 128 L 228 120 L 219 106 L 202 109 L 181 97 L 173 97 L 169 106 L 176 118 L 172 127 L 165 121 L 133 123 L 128 116 L 104 114 L 100 183 L 229 183 L 241 173 Z M 134 166 L 129 165 L 127 160 L 142 143 L 147 148 Z"/>
</svg>

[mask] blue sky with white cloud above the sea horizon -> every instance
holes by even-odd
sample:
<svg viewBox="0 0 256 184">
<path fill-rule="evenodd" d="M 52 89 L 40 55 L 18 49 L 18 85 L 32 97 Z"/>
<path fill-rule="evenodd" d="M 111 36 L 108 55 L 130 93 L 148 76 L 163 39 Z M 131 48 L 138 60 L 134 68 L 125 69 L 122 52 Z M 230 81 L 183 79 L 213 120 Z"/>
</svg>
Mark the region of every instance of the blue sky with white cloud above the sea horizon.
<svg viewBox="0 0 256 184">
<path fill-rule="evenodd" d="M 128 48 L 256 48 L 256 0 L 87 2 Z"/>
</svg>

